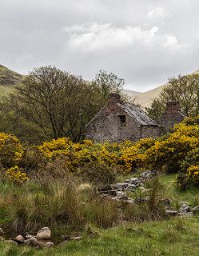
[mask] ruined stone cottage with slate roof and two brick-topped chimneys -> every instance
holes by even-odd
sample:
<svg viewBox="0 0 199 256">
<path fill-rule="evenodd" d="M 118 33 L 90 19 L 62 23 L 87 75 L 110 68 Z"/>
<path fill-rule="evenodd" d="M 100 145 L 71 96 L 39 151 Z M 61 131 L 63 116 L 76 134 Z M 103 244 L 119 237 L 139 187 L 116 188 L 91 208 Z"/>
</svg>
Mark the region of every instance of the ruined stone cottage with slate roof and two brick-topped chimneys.
<svg viewBox="0 0 199 256">
<path fill-rule="evenodd" d="M 126 139 L 135 142 L 140 138 L 157 138 L 163 130 L 169 130 L 183 118 L 177 103 L 170 102 L 167 107 L 157 123 L 140 107 L 123 103 L 119 94 L 110 94 L 109 102 L 86 126 L 86 138 L 94 142 L 121 142 Z M 172 118 L 169 118 L 170 114 L 173 114 Z"/>
</svg>

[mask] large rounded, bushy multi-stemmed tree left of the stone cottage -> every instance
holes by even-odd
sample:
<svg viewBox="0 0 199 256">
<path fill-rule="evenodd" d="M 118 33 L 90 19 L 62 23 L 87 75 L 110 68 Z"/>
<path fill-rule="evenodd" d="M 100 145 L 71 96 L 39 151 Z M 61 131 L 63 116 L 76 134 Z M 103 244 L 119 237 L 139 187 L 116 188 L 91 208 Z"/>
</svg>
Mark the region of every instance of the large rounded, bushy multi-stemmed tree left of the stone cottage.
<svg viewBox="0 0 199 256">
<path fill-rule="evenodd" d="M 94 84 L 81 77 L 43 66 L 16 87 L 7 108 L 14 113 L 18 131 L 21 123 L 28 123 L 46 138 L 67 136 L 78 141 L 86 123 L 101 107 L 98 94 Z"/>
</svg>

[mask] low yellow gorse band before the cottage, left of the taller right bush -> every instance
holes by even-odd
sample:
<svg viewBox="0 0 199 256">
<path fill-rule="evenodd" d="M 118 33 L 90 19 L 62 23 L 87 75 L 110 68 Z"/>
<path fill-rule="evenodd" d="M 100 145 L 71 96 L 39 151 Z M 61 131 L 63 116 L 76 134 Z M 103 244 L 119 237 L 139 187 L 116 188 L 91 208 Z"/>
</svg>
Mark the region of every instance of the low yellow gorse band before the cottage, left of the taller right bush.
<svg viewBox="0 0 199 256">
<path fill-rule="evenodd" d="M 66 166 L 71 172 L 77 172 L 87 164 L 93 166 L 119 166 L 121 173 L 128 173 L 142 166 L 145 160 L 144 152 L 153 145 L 152 138 L 143 138 L 139 142 L 97 143 L 90 140 L 73 143 L 69 138 L 58 138 L 44 142 L 38 149 L 50 162 L 57 158 L 65 158 Z"/>
</svg>

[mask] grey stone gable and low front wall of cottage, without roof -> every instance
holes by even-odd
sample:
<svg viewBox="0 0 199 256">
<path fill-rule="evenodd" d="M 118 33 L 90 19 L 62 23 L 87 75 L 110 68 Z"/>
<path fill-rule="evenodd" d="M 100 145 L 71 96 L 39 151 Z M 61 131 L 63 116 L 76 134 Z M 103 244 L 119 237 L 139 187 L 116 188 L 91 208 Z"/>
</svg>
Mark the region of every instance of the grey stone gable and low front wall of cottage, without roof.
<svg viewBox="0 0 199 256">
<path fill-rule="evenodd" d="M 125 115 L 125 126 L 121 126 L 120 115 Z M 136 142 L 145 137 L 157 138 L 159 134 L 159 126 L 141 126 L 117 104 L 105 106 L 86 129 L 86 138 L 94 142 L 121 142 L 128 139 Z"/>
</svg>

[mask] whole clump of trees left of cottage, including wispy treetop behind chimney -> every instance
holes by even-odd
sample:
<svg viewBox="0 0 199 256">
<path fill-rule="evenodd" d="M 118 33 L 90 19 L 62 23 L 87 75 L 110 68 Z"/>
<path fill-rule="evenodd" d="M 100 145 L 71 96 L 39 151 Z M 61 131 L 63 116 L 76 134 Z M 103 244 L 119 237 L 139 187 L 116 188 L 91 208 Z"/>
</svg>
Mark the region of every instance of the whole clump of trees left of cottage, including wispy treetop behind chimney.
<svg viewBox="0 0 199 256">
<path fill-rule="evenodd" d="M 78 142 L 109 92 L 123 85 L 123 79 L 105 71 L 96 78 L 88 82 L 54 66 L 34 69 L 0 103 L 0 129 L 31 143 L 60 137 Z"/>
</svg>

